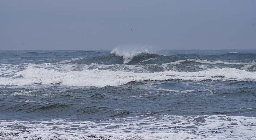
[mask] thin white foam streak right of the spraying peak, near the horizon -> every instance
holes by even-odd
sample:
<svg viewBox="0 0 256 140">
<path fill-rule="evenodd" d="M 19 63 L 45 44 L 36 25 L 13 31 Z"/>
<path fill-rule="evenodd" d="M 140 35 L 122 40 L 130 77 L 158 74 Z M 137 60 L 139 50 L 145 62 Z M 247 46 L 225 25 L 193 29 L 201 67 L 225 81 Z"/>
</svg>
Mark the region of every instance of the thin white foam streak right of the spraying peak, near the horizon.
<svg viewBox="0 0 256 140">
<path fill-rule="evenodd" d="M 200 60 L 200 59 L 186 59 L 186 60 L 178 60 L 175 62 L 169 62 L 169 63 L 165 63 L 163 65 L 169 65 L 169 64 L 179 64 L 181 62 L 185 62 L 185 61 L 194 61 L 194 62 L 198 62 L 198 63 L 205 63 L 205 64 L 229 64 L 229 65 L 248 65 L 248 63 L 230 63 L 230 62 L 224 62 L 224 61 L 208 61 L 208 60 Z"/>
</svg>

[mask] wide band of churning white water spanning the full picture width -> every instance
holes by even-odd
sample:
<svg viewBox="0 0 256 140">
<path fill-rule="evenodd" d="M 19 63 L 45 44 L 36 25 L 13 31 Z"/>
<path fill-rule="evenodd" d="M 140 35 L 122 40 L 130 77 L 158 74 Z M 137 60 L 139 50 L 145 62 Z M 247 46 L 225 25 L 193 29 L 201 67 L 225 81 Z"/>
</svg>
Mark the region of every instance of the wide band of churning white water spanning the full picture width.
<svg viewBox="0 0 256 140">
<path fill-rule="evenodd" d="M 129 82 L 146 80 L 237 80 L 255 81 L 256 73 L 235 68 L 217 68 L 198 72 L 164 71 L 154 73 L 135 73 L 110 70 L 48 70 L 28 68 L 16 73 L 16 78 L 0 78 L 0 85 L 61 84 L 65 86 L 120 86 Z"/>
</svg>

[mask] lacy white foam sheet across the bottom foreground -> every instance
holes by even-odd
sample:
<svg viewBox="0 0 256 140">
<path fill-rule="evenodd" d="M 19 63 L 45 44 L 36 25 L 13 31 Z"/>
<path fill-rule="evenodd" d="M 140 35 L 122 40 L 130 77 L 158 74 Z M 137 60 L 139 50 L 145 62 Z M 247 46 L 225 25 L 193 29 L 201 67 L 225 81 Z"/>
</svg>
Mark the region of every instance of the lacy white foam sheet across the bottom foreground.
<svg viewBox="0 0 256 140">
<path fill-rule="evenodd" d="M 256 138 L 256 117 L 155 115 L 107 121 L 0 120 L 0 139 L 40 140 L 243 140 Z"/>
</svg>

